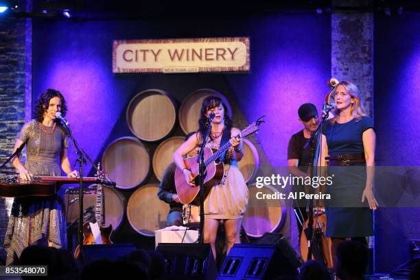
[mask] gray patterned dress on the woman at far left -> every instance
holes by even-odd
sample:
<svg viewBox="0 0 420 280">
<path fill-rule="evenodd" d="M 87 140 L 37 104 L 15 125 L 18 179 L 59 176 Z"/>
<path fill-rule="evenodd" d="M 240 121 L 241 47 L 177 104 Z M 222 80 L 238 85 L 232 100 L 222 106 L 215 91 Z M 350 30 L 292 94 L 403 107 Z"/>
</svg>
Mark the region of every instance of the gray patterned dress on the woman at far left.
<svg viewBox="0 0 420 280">
<path fill-rule="evenodd" d="M 45 127 L 47 131 L 52 128 Z M 60 155 L 68 148 L 65 129 L 57 125 L 51 135 L 40 130 L 40 123 L 32 120 L 23 126 L 18 137 L 26 142 L 25 168 L 34 175 L 60 176 Z M 24 248 L 32 244 L 51 244 L 66 247 L 65 215 L 60 196 L 15 198 L 4 247 L 8 252 L 6 264 L 21 256 Z"/>
</svg>

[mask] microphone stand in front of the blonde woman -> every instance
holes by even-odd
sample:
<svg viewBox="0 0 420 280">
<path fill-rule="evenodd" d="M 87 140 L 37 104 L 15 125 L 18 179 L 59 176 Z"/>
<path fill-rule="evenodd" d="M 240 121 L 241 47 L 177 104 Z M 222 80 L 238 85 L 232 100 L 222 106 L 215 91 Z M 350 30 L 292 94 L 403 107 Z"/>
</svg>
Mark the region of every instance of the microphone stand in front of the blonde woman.
<svg viewBox="0 0 420 280">
<path fill-rule="evenodd" d="M 323 106 L 323 116 L 321 118 L 320 124 L 318 126 L 318 128 L 316 128 L 315 132 L 312 133 L 310 139 L 306 142 L 306 144 L 303 146 L 303 149 L 307 149 L 309 147 L 309 145 L 312 143 L 315 143 L 315 139 L 317 139 L 317 143 L 320 144 L 321 142 L 321 135 L 322 135 L 322 130 L 323 130 L 323 123 L 325 121 L 325 119 L 327 119 L 328 115 L 329 115 L 329 110 L 331 110 L 331 108 L 327 108 L 327 104 L 324 104 Z M 310 153 L 310 162 L 309 162 L 309 167 L 311 168 L 311 174 L 310 177 L 313 178 L 316 174 L 315 172 L 315 167 L 316 165 L 315 163 L 315 158 L 314 158 L 314 154 L 319 154 L 320 153 L 320 145 L 316 145 L 316 152 L 314 150 L 314 145 L 311 145 L 311 153 Z M 312 182 L 312 180 L 311 180 Z M 314 188 L 311 186 L 310 187 L 310 194 L 314 193 Z M 307 208 L 308 209 L 308 225 L 307 225 L 307 233 L 308 233 L 308 238 L 307 238 L 307 259 L 312 259 L 312 241 L 314 239 L 314 201 L 312 199 L 307 201 Z"/>
</svg>

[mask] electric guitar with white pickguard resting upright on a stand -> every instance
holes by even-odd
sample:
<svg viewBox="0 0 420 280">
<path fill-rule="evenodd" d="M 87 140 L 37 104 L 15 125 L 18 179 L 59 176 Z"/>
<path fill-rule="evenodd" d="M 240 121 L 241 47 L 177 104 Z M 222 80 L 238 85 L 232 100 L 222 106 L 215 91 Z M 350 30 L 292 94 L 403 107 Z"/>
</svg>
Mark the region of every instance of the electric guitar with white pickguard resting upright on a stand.
<svg viewBox="0 0 420 280">
<path fill-rule="evenodd" d="M 98 164 L 99 165 L 99 164 Z M 105 172 L 99 170 L 97 176 L 99 178 L 105 178 Z M 110 224 L 105 227 L 105 211 L 104 211 L 104 189 L 103 185 L 98 184 L 96 189 L 96 203 L 95 203 L 95 221 L 85 222 L 83 224 L 83 245 L 93 244 L 112 244 L 110 241 L 110 235 L 113 233 L 113 225 Z M 75 249 L 74 257 L 78 258 L 80 253 L 79 246 Z"/>
</svg>

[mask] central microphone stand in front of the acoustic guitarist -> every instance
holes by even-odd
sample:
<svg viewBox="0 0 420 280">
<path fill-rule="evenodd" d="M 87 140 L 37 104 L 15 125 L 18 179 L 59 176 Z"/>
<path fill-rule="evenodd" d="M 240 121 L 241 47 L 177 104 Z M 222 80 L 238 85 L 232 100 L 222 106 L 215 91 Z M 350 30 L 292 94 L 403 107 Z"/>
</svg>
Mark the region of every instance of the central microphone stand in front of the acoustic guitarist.
<svg viewBox="0 0 420 280">
<path fill-rule="evenodd" d="M 205 200 L 205 187 L 204 187 L 204 179 L 205 179 L 205 172 L 206 172 L 206 164 L 204 159 L 204 150 L 206 147 L 207 139 L 210 135 L 211 130 L 211 121 L 213 121 L 214 114 L 209 116 L 209 124 L 207 125 L 206 134 L 204 135 L 201 143 L 200 152 L 197 156 L 197 163 L 198 163 L 198 176 L 199 176 L 199 186 L 200 186 L 200 230 L 198 231 L 198 243 L 202 244 L 204 242 L 203 239 L 203 232 L 204 232 L 204 221 L 205 221 L 205 213 L 204 213 L 204 200 Z"/>
</svg>

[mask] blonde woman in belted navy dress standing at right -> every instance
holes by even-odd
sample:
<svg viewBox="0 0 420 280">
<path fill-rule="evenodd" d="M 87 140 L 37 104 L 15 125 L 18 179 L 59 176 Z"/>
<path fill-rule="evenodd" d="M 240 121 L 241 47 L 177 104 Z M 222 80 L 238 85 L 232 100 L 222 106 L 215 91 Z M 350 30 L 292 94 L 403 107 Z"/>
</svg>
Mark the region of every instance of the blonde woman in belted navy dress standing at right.
<svg viewBox="0 0 420 280">
<path fill-rule="evenodd" d="M 332 255 L 346 239 L 366 244 L 373 235 L 372 210 L 375 166 L 375 130 L 366 116 L 355 84 L 342 81 L 336 86 L 335 117 L 323 124 L 321 165 L 328 165 L 333 184 L 327 186 L 331 199 L 325 201 L 327 236 L 332 240 Z M 334 175 L 333 175 L 334 174 Z"/>
</svg>

